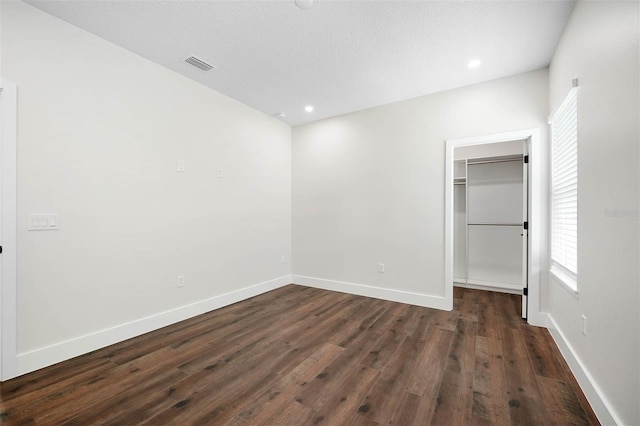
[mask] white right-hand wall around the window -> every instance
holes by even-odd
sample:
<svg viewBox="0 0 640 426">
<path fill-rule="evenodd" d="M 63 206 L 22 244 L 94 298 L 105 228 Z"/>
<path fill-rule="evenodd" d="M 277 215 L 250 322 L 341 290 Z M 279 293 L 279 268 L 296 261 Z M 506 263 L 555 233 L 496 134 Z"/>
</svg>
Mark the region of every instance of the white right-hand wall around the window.
<svg viewBox="0 0 640 426">
<path fill-rule="evenodd" d="M 629 425 L 640 424 L 638 16 L 638 2 L 578 1 L 550 68 L 551 111 L 580 85 L 579 295 L 550 279 L 552 328 Z"/>
</svg>

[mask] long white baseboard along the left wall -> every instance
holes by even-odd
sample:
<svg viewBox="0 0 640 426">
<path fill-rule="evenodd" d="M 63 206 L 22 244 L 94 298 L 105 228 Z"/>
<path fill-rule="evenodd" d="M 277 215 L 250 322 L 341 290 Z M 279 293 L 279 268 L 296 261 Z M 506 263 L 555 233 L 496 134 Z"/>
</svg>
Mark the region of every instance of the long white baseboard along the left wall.
<svg viewBox="0 0 640 426">
<path fill-rule="evenodd" d="M 51 346 L 18 354 L 18 371 L 14 377 L 240 302 L 290 283 L 291 275 L 286 275 Z M 9 378 L 11 377 L 7 379 Z"/>
</svg>

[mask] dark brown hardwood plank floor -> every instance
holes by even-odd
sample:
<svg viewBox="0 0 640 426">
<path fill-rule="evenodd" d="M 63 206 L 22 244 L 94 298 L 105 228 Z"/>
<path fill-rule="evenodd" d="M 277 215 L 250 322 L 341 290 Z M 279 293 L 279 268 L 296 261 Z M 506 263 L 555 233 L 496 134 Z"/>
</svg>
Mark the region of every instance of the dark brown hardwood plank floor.
<svg viewBox="0 0 640 426">
<path fill-rule="evenodd" d="M 289 285 L 1 384 L 37 425 L 597 424 L 520 297 L 452 312 Z"/>
</svg>

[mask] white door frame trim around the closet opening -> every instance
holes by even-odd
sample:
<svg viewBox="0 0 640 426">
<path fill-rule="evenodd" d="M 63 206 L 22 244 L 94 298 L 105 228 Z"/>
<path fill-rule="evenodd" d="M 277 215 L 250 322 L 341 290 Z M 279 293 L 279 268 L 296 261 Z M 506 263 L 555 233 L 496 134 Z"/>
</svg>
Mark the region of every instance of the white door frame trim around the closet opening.
<svg viewBox="0 0 640 426">
<path fill-rule="evenodd" d="M 542 238 L 542 158 L 540 129 L 525 129 L 493 135 L 476 136 L 461 139 L 449 139 L 445 143 L 445 305 L 453 307 L 453 169 L 454 148 L 469 145 L 484 145 L 496 142 L 526 140 L 529 155 L 529 303 L 528 323 L 546 326 L 545 317 L 540 313 L 540 259 Z"/>
</svg>

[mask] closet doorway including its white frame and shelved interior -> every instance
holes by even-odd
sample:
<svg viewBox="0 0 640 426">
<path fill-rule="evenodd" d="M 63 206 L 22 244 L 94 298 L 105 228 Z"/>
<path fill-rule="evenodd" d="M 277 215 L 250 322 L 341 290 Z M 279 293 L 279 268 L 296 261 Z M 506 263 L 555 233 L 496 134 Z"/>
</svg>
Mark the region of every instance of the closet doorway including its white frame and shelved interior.
<svg viewBox="0 0 640 426">
<path fill-rule="evenodd" d="M 449 139 L 445 148 L 445 306 L 453 307 L 454 283 L 518 293 L 523 318 L 545 326 L 540 259 L 547 166 L 539 129 Z"/>
</svg>

